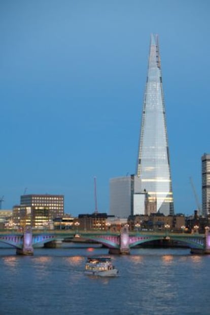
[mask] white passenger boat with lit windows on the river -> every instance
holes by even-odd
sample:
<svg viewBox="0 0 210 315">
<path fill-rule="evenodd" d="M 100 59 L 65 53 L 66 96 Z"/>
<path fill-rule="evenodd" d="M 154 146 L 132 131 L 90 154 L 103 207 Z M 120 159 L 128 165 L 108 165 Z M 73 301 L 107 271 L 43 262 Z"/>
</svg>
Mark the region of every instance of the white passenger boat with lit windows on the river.
<svg viewBox="0 0 210 315">
<path fill-rule="evenodd" d="M 116 277 L 118 269 L 112 264 L 111 257 L 88 257 L 84 272 L 99 277 Z"/>
</svg>

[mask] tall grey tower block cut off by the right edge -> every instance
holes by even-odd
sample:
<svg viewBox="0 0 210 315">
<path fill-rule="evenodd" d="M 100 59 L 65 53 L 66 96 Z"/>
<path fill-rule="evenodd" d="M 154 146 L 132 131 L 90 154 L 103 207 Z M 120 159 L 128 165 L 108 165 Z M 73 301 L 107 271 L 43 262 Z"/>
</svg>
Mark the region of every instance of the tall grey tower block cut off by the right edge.
<svg viewBox="0 0 210 315">
<path fill-rule="evenodd" d="M 202 215 L 210 214 L 210 154 L 204 153 L 202 161 Z"/>
</svg>

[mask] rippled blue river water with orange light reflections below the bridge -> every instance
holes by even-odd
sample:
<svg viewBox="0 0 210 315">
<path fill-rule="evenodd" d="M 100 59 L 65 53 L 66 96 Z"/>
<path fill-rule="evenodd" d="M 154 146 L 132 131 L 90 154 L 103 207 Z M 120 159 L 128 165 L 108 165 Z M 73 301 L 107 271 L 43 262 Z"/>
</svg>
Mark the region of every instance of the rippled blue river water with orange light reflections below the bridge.
<svg viewBox="0 0 210 315">
<path fill-rule="evenodd" d="M 209 315 L 210 255 L 189 249 L 132 249 L 109 255 L 115 278 L 84 275 L 87 256 L 106 248 L 0 248 L 1 315 Z M 0 244 L 1 247 L 1 244 Z"/>
</svg>

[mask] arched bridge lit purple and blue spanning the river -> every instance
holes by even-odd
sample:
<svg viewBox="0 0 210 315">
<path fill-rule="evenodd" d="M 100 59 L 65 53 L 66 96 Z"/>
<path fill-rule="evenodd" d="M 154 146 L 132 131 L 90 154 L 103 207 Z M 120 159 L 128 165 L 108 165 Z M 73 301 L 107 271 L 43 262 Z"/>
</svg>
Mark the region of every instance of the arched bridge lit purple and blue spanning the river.
<svg viewBox="0 0 210 315">
<path fill-rule="evenodd" d="M 32 230 L 27 227 L 24 232 L 17 230 L 0 231 L 0 243 L 5 243 L 16 248 L 17 254 L 33 255 L 33 249 L 37 245 L 46 247 L 58 247 L 65 239 L 93 241 L 109 248 L 110 253 L 129 254 L 130 249 L 141 244 L 158 240 L 173 241 L 190 248 L 192 253 L 210 254 L 210 233 L 188 234 L 173 233 L 170 231 L 129 231 L 124 226 L 119 232 L 89 230 Z"/>
</svg>

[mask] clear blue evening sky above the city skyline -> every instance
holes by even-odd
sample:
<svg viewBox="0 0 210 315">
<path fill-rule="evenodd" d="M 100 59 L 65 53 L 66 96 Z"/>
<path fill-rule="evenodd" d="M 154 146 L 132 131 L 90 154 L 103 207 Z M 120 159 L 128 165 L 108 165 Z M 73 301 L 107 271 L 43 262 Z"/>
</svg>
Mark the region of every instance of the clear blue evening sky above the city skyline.
<svg viewBox="0 0 210 315">
<path fill-rule="evenodd" d="M 209 1 L 2 0 L 3 209 L 24 193 L 109 213 L 109 180 L 135 173 L 150 34 L 159 34 L 176 213 L 201 203 L 210 153 Z"/>
</svg>

